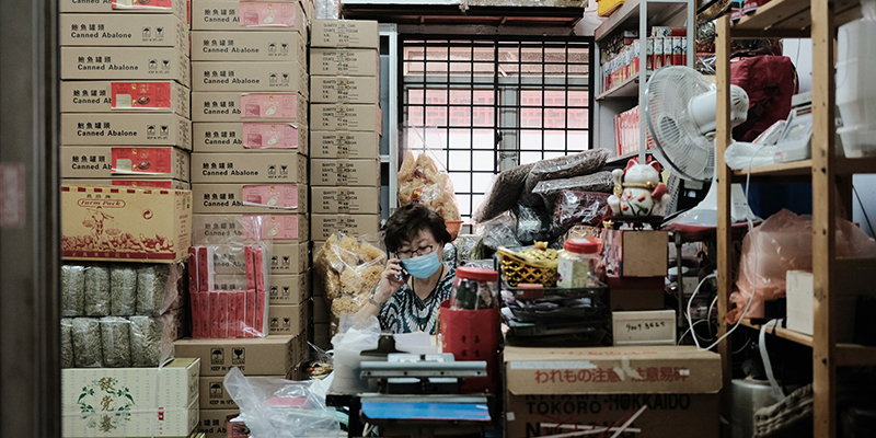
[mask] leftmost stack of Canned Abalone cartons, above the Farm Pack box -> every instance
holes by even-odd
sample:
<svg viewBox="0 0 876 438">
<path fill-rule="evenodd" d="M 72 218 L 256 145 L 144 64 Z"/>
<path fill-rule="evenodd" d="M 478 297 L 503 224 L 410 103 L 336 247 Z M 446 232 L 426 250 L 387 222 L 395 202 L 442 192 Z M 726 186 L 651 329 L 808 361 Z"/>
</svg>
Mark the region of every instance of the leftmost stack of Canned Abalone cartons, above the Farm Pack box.
<svg viewBox="0 0 876 438">
<path fill-rule="evenodd" d="M 188 3 L 61 0 L 61 177 L 187 188 Z"/>
</svg>

